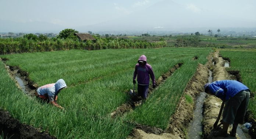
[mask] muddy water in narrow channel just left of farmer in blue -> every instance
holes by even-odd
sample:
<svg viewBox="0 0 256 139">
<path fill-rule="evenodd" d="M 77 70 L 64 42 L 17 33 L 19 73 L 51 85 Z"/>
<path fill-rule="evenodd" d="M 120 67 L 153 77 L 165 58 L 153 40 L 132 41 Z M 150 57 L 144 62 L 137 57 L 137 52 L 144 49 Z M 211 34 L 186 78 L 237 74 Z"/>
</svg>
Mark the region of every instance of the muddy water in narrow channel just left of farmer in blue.
<svg viewBox="0 0 256 139">
<path fill-rule="evenodd" d="M 212 82 L 213 78 L 211 76 L 211 71 L 209 70 L 208 82 Z M 188 137 L 189 139 L 201 139 L 203 133 L 203 102 L 205 100 L 206 93 L 201 92 L 199 97 L 196 99 L 196 108 L 194 110 L 193 121 L 190 123 Z"/>
</svg>

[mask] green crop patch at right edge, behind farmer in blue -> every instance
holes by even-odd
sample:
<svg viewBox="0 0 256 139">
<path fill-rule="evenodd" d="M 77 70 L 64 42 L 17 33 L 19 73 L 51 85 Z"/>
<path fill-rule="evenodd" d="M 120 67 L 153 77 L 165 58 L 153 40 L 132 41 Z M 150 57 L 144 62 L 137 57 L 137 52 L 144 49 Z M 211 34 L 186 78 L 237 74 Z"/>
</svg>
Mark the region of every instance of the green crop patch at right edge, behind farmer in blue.
<svg viewBox="0 0 256 139">
<path fill-rule="evenodd" d="M 243 84 L 248 86 L 251 92 L 256 93 L 256 51 L 248 50 L 222 50 L 223 57 L 230 58 L 230 68 L 228 70 L 240 71 Z M 250 99 L 248 109 L 252 112 L 253 118 L 256 119 L 256 100 L 255 97 Z"/>
</svg>

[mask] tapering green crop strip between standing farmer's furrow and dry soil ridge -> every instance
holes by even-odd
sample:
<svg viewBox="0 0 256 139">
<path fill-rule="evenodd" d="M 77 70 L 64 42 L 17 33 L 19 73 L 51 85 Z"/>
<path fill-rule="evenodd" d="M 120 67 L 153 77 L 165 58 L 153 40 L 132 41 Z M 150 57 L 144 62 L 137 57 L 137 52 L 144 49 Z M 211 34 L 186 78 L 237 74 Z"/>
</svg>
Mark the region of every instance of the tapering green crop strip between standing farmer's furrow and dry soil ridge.
<svg viewBox="0 0 256 139">
<path fill-rule="evenodd" d="M 198 56 L 198 60 L 183 57 L 184 64 L 177 69 L 163 85 L 157 88 L 149 99 L 141 106 L 127 115 L 127 119 L 142 125 L 156 126 L 166 129 L 171 115 L 184 92 L 186 84 L 196 71 L 198 63 L 205 64 L 209 51 Z M 192 57 L 192 55 L 191 55 Z M 191 97 L 186 96 L 188 103 L 192 103 Z"/>
</svg>

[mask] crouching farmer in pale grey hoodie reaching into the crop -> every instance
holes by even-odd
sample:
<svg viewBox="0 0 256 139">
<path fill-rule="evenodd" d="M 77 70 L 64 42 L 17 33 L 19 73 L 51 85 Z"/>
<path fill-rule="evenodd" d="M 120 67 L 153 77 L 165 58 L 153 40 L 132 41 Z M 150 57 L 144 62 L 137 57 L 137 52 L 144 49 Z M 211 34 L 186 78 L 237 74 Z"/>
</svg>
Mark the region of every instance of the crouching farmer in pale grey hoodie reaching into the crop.
<svg viewBox="0 0 256 139">
<path fill-rule="evenodd" d="M 56 83 L 47 84 L 41 86 L 36 90 L 36 96 L 43 99 L 48 100 L 49 103 L 53 104 L 54 106 L 63 109 L 60 105 L 57 104 L 58 93 L 63 88 L 67 88 L 67 85 L 63 79 L 59 79 Z"/>
</svg>

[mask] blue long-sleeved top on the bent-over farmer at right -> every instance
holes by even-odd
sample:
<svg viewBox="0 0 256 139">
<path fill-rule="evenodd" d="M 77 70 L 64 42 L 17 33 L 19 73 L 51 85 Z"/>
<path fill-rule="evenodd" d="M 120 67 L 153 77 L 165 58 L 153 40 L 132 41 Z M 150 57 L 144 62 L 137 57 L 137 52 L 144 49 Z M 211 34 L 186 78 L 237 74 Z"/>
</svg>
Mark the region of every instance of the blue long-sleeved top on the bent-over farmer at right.
<svg viewBox="0 0 256 139">
<path fill-rule="evenodd" d="M 228 100 L 230 97 L 233 97 L 240 91 L 246 89 L 249 88 L 241 82 L 232 80 L 215 81 L 209 85 L 210 92 L 221 100 Z"/>
</svg>

